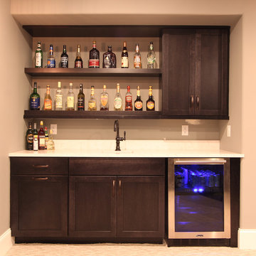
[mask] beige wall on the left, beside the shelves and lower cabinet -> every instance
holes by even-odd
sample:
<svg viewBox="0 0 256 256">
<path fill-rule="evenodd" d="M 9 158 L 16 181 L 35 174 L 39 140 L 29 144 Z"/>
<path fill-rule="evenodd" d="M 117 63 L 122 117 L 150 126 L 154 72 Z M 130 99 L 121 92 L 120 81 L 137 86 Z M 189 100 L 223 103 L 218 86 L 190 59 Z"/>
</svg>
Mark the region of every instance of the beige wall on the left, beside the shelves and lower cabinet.
<svg viewBox="0 0 256 256">
<path fill-rule="evenodd" d="M 10 151 L 23 149 L 29 81 L 23 67 L 30 65 L 27 36 L 10 14 L 10 1 L 0 1 L 1 148 L 0 148 L 0 235 L 9 229 Z M 30 41 L 30 40 L 29 40 Z"/>
</svg>

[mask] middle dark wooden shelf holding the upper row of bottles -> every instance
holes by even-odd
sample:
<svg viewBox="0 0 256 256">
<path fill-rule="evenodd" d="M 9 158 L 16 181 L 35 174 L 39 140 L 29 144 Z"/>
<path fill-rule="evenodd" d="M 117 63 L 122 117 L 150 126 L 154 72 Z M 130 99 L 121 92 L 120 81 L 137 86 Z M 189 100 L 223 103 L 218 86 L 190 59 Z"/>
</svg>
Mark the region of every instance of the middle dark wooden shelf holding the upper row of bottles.
<svg viewBox="0 0 256 256">
<path fill-rule="evenodd" d="M 79 77 L 159 77 L 160 68 L 25 68 L 33 77 L 79 76 Z"/>
</svg>

